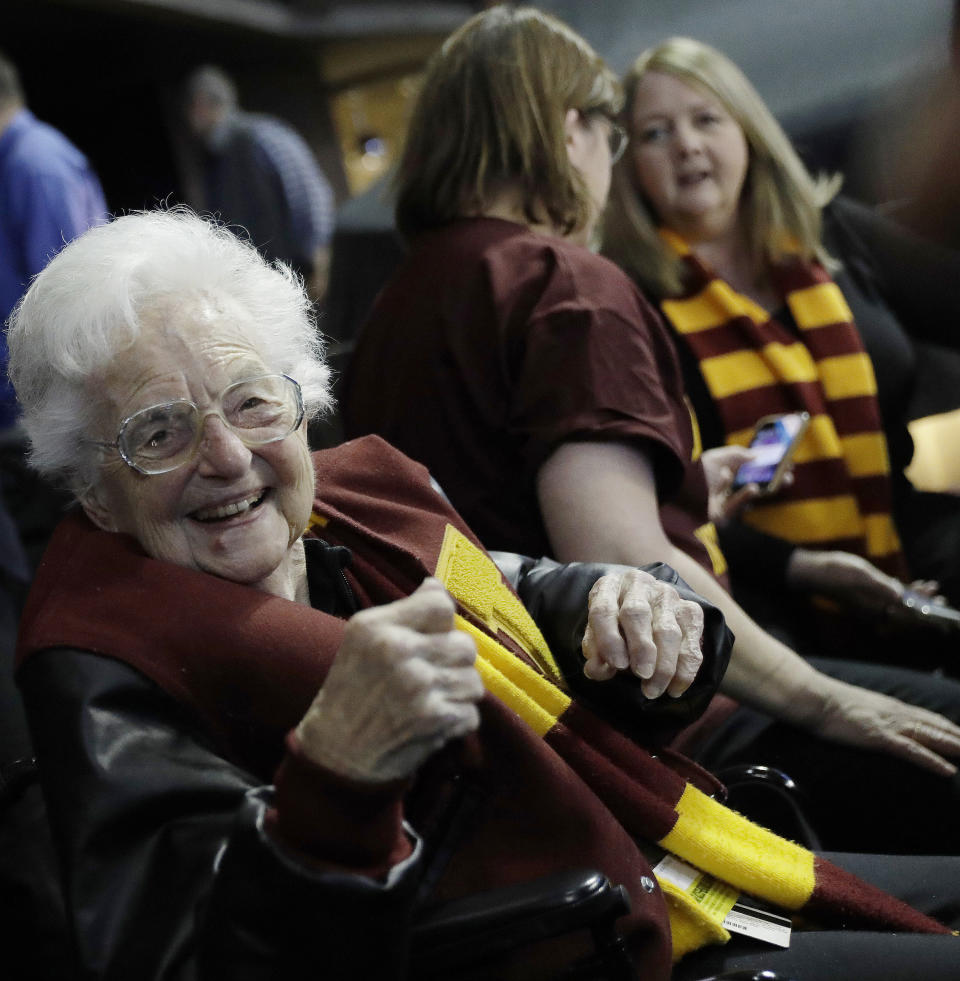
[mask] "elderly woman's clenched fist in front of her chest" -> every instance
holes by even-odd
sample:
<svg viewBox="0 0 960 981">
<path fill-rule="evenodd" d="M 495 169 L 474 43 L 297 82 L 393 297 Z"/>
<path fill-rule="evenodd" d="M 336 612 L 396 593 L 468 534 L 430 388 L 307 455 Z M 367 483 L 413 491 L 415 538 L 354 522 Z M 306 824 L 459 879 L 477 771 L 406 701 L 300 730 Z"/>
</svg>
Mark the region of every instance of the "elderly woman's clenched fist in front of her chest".
<svg viewBox="0 0 960 981">
<path fill-rule="evenodd" d="M 480 722 L 472 638 L 436 579 L 350 618 L 327 680 L 297 727 L 314 762 L 356 780 L 407 777 Z"/>
</svg>

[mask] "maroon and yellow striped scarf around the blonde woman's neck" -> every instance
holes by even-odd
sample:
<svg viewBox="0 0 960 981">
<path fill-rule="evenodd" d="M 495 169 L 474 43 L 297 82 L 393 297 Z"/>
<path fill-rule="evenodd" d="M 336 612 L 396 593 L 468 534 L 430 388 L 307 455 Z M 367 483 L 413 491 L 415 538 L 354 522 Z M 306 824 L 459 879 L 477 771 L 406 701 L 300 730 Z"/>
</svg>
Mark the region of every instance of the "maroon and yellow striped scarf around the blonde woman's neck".
<svg viewBox="0 0 960 981">
<path fill-rule="evenodd" d="M 817 265 L 771 266 L 802 340 L 702 265 L 678 236 L 688 293 L 661 308 L 696 357 L 728 443 L 749 442 L 756 421 L 806 411 L 794 483 L 745 521 L 796 544 L 842 548 L 903 573 L 891 517 L 890 463 L 873 366 L 840 290 Z"/>
</svg>

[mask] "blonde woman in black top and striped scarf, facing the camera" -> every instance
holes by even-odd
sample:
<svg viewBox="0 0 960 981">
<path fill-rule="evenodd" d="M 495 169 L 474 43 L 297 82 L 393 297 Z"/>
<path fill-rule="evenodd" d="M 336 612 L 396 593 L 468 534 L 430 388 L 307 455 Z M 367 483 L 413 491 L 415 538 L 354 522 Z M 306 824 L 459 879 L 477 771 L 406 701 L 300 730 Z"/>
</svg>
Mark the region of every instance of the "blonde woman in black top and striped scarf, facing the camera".
<svg viewBox="0 0 960 981">
<path fill-rule="evenodd" d="M 665 315 L 704 447 L 746 442 L 767 415 L 811 417 L 795 480 L 720 529 L 738 596 L 821 650 L 851 638 L 836 617 L 811 630 L 811 593 L 860 611 L 861 631 L 886 608 L 896 615 L 911 576 L 921 593 L 960 602 L 960 502 L 918 492 L 903 472 L 913 339 L 956 343 L 960 256 L 918 250 L 838 198 L 839 177 L 812 177 L 708 45 L 647 50 L 625 89 L 630 146 L 603 249 Z M 858 639 L 876 655 L 876 639 Z M 886 656 L 912 663 L 903 640 L 894 632 Z"/>
</svg>

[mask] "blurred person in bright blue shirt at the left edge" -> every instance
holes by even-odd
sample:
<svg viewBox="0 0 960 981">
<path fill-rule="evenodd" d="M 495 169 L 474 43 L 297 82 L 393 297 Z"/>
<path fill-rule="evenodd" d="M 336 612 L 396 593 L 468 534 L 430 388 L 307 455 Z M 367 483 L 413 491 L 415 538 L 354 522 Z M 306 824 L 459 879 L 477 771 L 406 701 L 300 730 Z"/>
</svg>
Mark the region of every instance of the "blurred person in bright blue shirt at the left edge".
<svg viewBox="0 0 960 981">
<path fill-rule="evenodd" d="M 67 970 L 63 910 L 13 651 L 32 567 L 64 498 L 29 471 L 7 377 L 6 321 L 31 279 L 66 242 L 107 220 L 87 158 L 27 108 L 19 72 L 0 53 L 0 940 L 17 979 Z M 18 953 L 19 951 L 19 953 Z"/>
</svg>

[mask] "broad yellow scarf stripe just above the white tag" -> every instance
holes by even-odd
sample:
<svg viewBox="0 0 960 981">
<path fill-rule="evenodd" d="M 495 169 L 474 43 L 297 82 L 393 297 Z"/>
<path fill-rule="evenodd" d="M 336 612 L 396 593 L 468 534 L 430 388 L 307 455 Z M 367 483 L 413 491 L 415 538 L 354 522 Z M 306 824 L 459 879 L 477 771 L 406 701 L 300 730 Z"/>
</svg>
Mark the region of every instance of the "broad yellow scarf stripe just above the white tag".
<svg viewBox="0 0 960 981">
<path fill-rule="evenodd" d="M 800 909 L 816 884 L 813 852 L 748 821 L 691 784 L 660 845 L 742 892 Z"/>
</svg>

